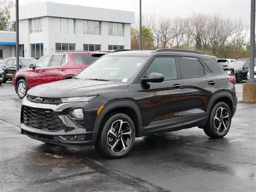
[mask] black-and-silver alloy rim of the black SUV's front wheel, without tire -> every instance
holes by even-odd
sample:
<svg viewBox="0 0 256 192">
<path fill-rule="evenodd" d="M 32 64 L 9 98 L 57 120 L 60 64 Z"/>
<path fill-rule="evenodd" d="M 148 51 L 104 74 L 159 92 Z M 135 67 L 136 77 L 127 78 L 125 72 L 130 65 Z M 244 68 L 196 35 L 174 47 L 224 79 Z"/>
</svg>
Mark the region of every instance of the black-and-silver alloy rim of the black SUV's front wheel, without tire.
<svg viewBox="0 0 256 192">
<path fill-rule="evenodd" d="M 116 120 L 107 133 L 108 147 L 114 153 L 124 152 L 130 146 L 131 135 L 130 124 L 122 119 Z"/>
</svg>

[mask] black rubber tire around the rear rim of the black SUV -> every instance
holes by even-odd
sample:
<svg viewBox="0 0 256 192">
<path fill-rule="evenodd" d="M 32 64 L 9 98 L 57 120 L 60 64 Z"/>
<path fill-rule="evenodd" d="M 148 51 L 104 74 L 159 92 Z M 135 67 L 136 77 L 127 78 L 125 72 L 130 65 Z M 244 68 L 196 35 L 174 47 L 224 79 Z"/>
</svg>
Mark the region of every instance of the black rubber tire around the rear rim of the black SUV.
<svg viewBox="0 0 256 192">
<path fill-rule="evenodd" d="M 216 131 L 216 129 L 214 128 L 214 116 L 216 114 L 216 110 L 220 107 L 225 107 L 227 110 L 228 110 L 228 114 L 229 114 L 229 125 L 228 125 L 228 128 L 225 132 L 223 132 L 222 134 L 218 133 Z M 207 123 L 207 126 L 206 126 L 206 130 L 204 130 L 204 132 L 212 137 L 212 138 L 222 138 L 224 137 L 226 134 L 228 134 L 228 131 L 230 130 L 230 126 L 231 126 L 231 119 L 232 119 L 232 114 L 231 114 L 231 111 L 230 111 L 230 108 L 229 106 L 224 103 L 224 102 L 218 102 L 214 105 L 214 107 L 212 108 L 211 110 L 211 113 L 210 113 L 210 116 L 209 116 L 209 119 L 208 119 L 208 123 Z"/>
</svg>

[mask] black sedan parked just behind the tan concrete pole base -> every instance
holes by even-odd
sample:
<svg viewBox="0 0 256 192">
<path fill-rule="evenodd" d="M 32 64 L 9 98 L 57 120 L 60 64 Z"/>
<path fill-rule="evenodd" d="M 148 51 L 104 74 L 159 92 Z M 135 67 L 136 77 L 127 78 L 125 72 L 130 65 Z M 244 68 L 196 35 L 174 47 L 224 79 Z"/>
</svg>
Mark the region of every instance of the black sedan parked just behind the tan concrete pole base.
<svg viewBox="0 0 256 192">
<path fill-rule="evenodd" d="M 231 66 L 234 68 L 237 83 L 242 83 L 243 79 L 247 79 L 247 73 L 249 70 L 248 61 L 233 62 Z"/>
</svg>

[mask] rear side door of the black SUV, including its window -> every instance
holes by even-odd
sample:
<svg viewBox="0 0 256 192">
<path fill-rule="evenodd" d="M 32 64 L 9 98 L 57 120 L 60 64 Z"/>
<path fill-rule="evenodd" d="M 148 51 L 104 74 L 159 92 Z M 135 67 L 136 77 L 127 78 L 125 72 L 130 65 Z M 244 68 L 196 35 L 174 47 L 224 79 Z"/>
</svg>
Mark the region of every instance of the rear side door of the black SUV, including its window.
<svg viewBox="0 0 256 192">
<path fill-rule="evenodd" d="M 184 83 L 183 126 L 204 124 L 212 95 L 218 91 L 218 80 L 198 58 L 178 57 Z"/>
</svg>

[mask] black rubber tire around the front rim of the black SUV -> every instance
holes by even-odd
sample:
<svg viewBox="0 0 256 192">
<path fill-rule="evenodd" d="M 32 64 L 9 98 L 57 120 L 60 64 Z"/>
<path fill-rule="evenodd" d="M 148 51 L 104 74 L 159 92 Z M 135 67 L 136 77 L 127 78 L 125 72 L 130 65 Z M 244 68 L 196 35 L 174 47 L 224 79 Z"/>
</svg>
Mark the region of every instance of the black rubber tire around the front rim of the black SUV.
<svg viewBox="0 0 256 192">
<path fill-rule="evenodd" d="M 119 120 L 119 119 L 122 119 L 123 121 L 126 121 L 130 124 L 130 127 L 132 129 L 132 134 L 131 134 L 130 145 L 128 146 L 128 148 L 124 152 L 121 152 L 120 154 L 117 154 L 117 153 L 112 152 L 110 150 L 109 146 L 108 146 L 107 132 L 108 132 L 110 126 L 116 120 Z M 128 115 L 122 114 L 122 113 L 117 113 L 117 114 L 113 114 L 111 116 L 108 116 L 107 120 L 105 121 L 104 125 L 102 126 L 102 129 L 100 130 L 99 138 L 97 140 L 98 144 L 96 146 L 96 149 L 99 150 L 99 152 L 101 154 L 103 154 L 104 156 L 106 156 L 108 158 L 121 158 L 121 157 L 126 156 L 128 154 L 128 152 L 131 150 L 131 148 L 134 144 L 134 140 L 135 140 L 134 122 L 132 121 L 132 119 Z"/>
</svg>

